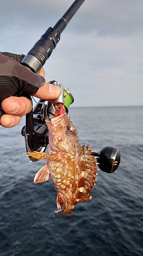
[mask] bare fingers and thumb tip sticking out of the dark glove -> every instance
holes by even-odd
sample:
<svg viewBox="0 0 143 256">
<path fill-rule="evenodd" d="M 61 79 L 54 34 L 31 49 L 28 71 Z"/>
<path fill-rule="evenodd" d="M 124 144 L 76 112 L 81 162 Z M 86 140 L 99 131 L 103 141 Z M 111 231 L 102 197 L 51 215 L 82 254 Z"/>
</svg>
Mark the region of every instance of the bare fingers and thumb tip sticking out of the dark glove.
<svg viewBox="0 0 143 256">
<path fill-rule="evenodd" d="M 38 74 L 44 77 L 44 69 L 42 68 Z M 33 96 L 53 102 L 53 100 L 58 98 L 60 94 L 61 89 L 58 86 L 45 82 Z M 21 121 L 22 116 L 29 113 L 32 110 L 32 107 L 32 101 L 23 96 L 11 96 L 4 99 L 2 101 L 2 108 L 6 114 L 1 117 L 1 125 L 4 127 L 13 127 L 17 125 Z"/>
</svg>

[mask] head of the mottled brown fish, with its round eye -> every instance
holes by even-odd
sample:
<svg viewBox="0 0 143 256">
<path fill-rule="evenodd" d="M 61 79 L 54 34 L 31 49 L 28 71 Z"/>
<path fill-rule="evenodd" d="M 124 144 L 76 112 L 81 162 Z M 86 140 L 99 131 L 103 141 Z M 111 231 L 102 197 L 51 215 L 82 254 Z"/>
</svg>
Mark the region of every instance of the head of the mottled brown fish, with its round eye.
<svg viewBox="0 0 143 256">
<path fill-rule="evenodd" d="M 64 151 L 69 154 L 75 154 L 75 147 L 80 148 L 78 134 L 75 125 L 64 113 L 54 117 L 51 121 L 46 120 L 49 131 L 49 147 L 51 150 Z"/>
</svg>

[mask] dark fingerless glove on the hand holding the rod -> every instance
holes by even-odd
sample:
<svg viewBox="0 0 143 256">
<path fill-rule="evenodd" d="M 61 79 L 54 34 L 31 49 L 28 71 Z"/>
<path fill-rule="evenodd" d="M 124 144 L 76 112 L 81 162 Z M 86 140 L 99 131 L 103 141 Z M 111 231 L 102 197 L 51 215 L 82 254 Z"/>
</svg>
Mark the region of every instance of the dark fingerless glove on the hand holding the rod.
<svg viewBox="0 0 143 256">
<path fill-rule="evenodd" d="M 20 64 L 24 55 L 0 53 L 0 101 L 23 93 L 33 95 L 45 79 Z"/>
</svg>

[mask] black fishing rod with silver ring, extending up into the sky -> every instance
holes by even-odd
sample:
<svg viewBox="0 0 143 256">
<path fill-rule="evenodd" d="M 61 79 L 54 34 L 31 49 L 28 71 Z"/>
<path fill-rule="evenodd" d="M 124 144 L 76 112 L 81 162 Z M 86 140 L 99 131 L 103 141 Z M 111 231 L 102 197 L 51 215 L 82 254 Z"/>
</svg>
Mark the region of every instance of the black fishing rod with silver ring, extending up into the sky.
<svg viewBox="0 0 143 256">
<path fill-rule="evenodd" d="M 48 28 L 47 31 L 41 36 L 40 40 L 36 42 L 34 47 L 27 53 L 22 60 L 21 64 L 30 68 L 33 72 L 37 73 L 45 64 L 46 60 L 50 57 L 53 49 L 56 47 L 60 40 L 61 33 L 70 22 L 71 18 L 77 12 L 79 7 L 85 0 L 75 0 L 61 19 L 54 25 L 53 28 Z"/>
</svg>

